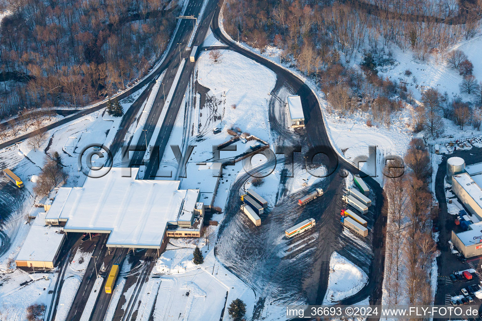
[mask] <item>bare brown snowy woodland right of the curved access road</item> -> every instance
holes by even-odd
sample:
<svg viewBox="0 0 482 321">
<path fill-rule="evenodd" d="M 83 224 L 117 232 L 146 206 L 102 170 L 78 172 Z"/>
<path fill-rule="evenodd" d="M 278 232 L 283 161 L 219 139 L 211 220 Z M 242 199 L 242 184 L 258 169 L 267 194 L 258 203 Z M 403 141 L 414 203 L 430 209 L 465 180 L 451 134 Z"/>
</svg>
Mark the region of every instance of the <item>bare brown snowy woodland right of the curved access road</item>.
<svg viewBox="0 0 482 321">
<path fill-rule="evenodd" d="M 280 48 L 284 63 L 316 81 L 329 103 L 327 112 L 371 111 L 376 125 L 389 128 L 392 113 L 413 104 L 414 131 L 439 136 L 442 117 L 460 129 L 480 129 L 482 79 L 472 75 L 463 51 L 450 49 L 476 35 L 481 6 L 481 0 L 229 0 L 224 28 L 261 52 L 268 45 Z M 393 48 L 413 51 L 415 61 L 448 64 L 463 76 L 461 95 L 449 97 L 417 84 L 422 97 L 415 102 L 414 89 L 407 88 L 417 83 L 411 70 L 402 80 L 378 75 L 397 64 Z M 360 61 L 356 67 L 355 61 Z"/>
</svg>

